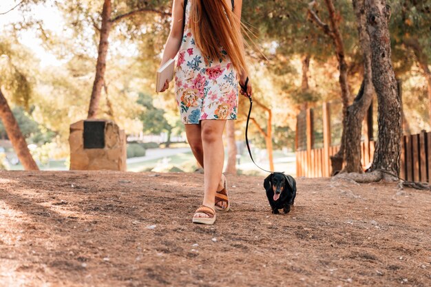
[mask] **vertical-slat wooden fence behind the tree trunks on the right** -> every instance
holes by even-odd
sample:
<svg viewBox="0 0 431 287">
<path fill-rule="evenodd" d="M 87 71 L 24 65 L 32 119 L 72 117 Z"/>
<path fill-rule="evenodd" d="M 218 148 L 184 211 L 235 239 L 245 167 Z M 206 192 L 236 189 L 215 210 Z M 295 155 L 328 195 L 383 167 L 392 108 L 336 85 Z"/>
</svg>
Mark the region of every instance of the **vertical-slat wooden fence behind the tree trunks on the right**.
<svg viewBox="0 0 431 287">
<path fill-rule="evenodd" d="M 315 109 L 306 109 L 297 117 L 296 134 L 296 174 L 308 178 L 330 176 L 332 170 L 330 156 L 339 150 L 339 144 L 332 145 L 331 135 L 331 104 L 322 105 L 323 143 L 315 145 Z M 320 107 L 319 107 L 320 108 Z M 341 116 L 341 115 L 332 115 Z M 375 151 L 372 127 L 372 106 L 364 120 L 361 140 L 361 164 L 364 169 L 372 162 Z M 401 138 L 401 162 L 399 176 L 405 180 L 431 183 L 431 132 L 407 135 Z"/>
</svg>

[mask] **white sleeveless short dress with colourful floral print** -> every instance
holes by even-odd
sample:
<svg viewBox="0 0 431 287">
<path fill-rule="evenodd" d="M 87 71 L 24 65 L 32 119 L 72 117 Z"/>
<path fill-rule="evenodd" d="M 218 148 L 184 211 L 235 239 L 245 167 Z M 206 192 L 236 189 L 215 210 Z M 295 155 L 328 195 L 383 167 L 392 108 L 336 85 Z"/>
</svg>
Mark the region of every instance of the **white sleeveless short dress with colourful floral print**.
<svg viewBox="0 0 431 287">
<path fill-rule="evenodd" d="M 193 1 L 193 0 L 191 0 Z M 238 79 L 227 52 L 222 59 L 204 59 L 189 28 L 189 0 L 186 7 L 184 36 L 178 51 L 175 95 L 184 124 L 200 120 L 235 120 L 238 109 Z"/>
</svg>

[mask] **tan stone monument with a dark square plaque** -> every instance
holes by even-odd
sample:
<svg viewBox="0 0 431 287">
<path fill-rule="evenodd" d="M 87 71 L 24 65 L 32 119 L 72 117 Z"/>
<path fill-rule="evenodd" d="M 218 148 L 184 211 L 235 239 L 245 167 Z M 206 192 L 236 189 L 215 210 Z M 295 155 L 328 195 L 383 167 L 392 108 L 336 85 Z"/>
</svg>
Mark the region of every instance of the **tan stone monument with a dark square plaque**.
<svg viewBox="0 0 431 287">
<path fill-rule="evenodd" d="M 70 125 L 70 170 L 126 171 L 126 136 L 112 120 Z"/>
</svg>

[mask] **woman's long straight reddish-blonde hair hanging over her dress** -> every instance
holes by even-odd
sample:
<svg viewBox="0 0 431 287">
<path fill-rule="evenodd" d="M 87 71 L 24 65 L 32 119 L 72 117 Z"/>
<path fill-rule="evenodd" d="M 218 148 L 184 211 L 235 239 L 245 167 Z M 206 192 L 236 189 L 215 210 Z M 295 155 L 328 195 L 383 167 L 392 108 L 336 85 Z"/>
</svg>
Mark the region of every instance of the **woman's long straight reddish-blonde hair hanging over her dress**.
<svg viewBox="0 0 431 287">
<path fill-rule="evenodd" d="M 204 57 L 222 59 L 222 46 L 235 70 L 247 72 L 241 22 L 225 0 L 193 0 L 189 25 Z"/>
</svg>

